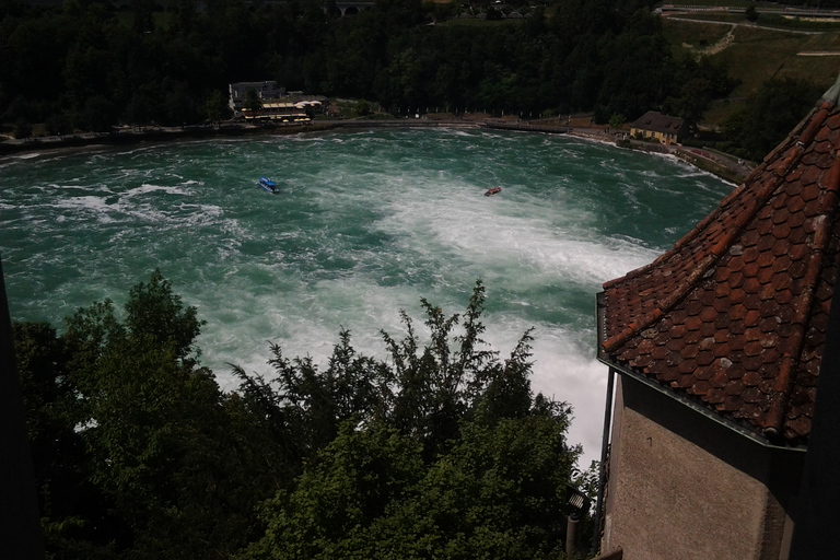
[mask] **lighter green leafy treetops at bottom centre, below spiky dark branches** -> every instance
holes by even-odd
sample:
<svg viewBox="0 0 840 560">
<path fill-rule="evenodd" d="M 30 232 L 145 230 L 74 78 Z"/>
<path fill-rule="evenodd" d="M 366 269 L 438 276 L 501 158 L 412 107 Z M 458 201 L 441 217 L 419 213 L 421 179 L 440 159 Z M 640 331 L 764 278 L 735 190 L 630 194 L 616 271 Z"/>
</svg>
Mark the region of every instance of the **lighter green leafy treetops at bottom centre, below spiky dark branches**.
<svg viewBox="0 0 840 560">
<path fill-rule="evenodd" d="M 569 408 L 465 422 L 425 465 L 415 439 L 345 424 L 299 485 L 262 510 L 268 529 L 243 559 L 556 558 L 579 447 Z"/>
</svg>

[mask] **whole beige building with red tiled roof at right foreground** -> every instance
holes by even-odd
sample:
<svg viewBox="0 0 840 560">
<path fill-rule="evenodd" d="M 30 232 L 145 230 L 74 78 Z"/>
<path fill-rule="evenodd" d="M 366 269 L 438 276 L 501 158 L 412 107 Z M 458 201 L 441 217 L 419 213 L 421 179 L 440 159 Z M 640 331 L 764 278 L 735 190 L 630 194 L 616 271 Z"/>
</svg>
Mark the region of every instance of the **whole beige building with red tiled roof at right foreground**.
<svg viewBox="0 0 840 560">
<path fill-rule="evenodd" d="M 840 256 L 837 100 L 674 248 L 604 284 L 602 550 L 789 558 Z"/>
</svg>

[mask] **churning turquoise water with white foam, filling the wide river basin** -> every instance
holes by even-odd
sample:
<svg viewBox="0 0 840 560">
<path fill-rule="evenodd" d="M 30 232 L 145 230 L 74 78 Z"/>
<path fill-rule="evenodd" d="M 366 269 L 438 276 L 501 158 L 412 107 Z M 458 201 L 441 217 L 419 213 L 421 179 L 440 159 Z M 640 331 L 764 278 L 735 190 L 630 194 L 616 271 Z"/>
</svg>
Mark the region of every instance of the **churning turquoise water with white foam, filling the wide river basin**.
<svg viewBox="0 0 840 560">
<path fill-rule="evenodd" d="M 281 192 L 256 185 L 273 178 Z M 485 197 L 501 186 L 495 197 Z M 667 249 L 732 186 L 675 160 L 568 137 L 374 130 L 27 154 L 0 160 L 13 320 L 58 324 L 154 268 L 207 319 L 202 361 L 267 373 L 329 355 L 341 326 L 384 355 L 419 300 L 460 313 L 477 279 L 486 339 L 535 327 L 535 389 L 568 400 L 598 455 L 606 369 L 595 294 Z"/>
</svg>

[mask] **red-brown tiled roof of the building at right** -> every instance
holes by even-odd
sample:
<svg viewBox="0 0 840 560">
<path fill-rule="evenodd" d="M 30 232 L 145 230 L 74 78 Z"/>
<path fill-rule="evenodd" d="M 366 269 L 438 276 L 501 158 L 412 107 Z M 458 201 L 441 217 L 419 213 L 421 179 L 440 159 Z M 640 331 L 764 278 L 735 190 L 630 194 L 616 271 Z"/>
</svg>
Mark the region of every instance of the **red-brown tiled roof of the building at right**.
<svg viewBox="0 0 840 560">
<path fill-rule="evenodd" d="M 605 361 L 791 445 L 810 432 L 840 249 L 832 98 L 673 249 L 605 283 L 599 313 Z"/>
</svg>

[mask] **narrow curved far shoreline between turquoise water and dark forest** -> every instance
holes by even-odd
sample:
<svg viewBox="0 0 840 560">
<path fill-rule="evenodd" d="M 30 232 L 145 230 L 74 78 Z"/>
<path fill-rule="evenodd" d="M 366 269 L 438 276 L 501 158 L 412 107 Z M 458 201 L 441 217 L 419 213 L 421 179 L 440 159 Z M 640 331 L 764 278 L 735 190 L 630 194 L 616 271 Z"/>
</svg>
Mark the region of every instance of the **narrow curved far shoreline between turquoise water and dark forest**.
<svg viewBox="0 0 840 560">
<path fill-rule="evenodd" d="M 291 136 L 306 132 L 326 132 L 341 129 L 372 128 L 476 128 L 490 130 L 514 130 L 521 132 L 537 132 L 568 135 L 581 140 L 599 142 L 616 148 L 670 154 L 680 161 L 711 173 L 716 177 L 740 184 L 749 174 L 749 168 L 737 166 L 727 159 L 712 158 L 702 150 L 685 147 L 666 147 L 638 140 L 620 140 L 603 127 L 559 126 L 557 121 L 506 121 L 501 119 L 388 119 L 388 120 L 315 120 L 305 125 L 273 125 L 256 126 L 249 124 L 196 125 L 184 127 L 131 127 L 115 130 L 110 133 L 85 132 L 58 137 L 36 137 L 23 140 L 7 140 L 0 142 L 0 161 L 27 153 L 45 154 L 55 152 L 77 152 L 91 148 L 109 148 L 135 145 L 142 143 L 164 143 L 183 140 L 205 140 L 222 138 L 242 138 L 258 136 Z M 36 156 L 36 155 L 33 155 Z M 724 163 L 724 161 L 728 162 Z"/>
</svg>

